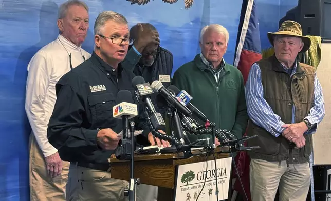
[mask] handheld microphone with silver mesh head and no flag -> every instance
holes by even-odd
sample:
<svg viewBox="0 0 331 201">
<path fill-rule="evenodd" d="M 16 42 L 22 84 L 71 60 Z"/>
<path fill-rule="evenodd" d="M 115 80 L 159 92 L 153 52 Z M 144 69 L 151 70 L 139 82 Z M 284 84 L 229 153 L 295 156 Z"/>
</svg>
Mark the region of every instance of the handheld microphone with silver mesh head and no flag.
<svg viewBox="0 0 331 201">
<path fill-rule="evenodd" d="M 154 81 L 152 83 L 152 89 L 153 91 L 158 92 L 164 98 L 166 98 L 167 103 L 170 106 L 176 108 L 183 115 L 188 117 L 192 115 L 192 112 L 185 105 L 180 103 L 180 101 L 176 97 L 174 97 L 166 88 L 164 88 L 160 81 Z"/>
</svg>

